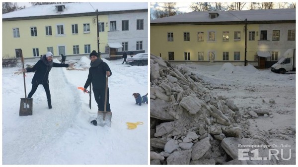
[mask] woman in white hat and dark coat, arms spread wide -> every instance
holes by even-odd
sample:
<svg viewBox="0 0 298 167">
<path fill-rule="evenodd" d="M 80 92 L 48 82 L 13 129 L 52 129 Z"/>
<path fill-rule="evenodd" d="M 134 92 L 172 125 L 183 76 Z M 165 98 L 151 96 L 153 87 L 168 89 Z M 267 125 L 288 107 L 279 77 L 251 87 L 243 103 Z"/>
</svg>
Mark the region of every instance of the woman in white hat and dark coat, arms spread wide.
<svg viewBox="0 0 298 167">
<path fill-rule="evenodd" d="M 51 93 L 49 87 L 49 72 L 52 67 L 69 67 L 69 64 L 60 64 L 53 62 L 53 54 L 51 52 L 47 52 L 46 55 L 43 55 L 40 60 L 32 68 L 22 69 L 22 72 L 34 72 L 35 74 L 32 79 L 32 89 L 28 94 L 28 98 L 31 98 L 35 91 L 37 90 L 38 85 L 42 84 L 45 88 L 47 99 L 48 99 L 48 107 L 52 109 L 51 102 Z"/>
</svg>

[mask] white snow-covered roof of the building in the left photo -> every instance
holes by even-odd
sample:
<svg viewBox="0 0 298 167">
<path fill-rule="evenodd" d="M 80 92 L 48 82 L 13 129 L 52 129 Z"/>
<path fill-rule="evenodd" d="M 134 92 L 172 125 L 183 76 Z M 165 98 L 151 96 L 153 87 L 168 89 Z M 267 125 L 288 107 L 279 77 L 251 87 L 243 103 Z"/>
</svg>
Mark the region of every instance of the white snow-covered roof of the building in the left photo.
<svg viewBox="0 0 298 167">
<path fill-rule="evenodd" d="M 64 5 L 62 12 L 56 11 L 57 5 Z M 30 16 L 49 16 L 62 14 L 77 14 L 102 11 L 121 11 L 148 9 L 147 2 L 75 2 L 62 4 L 45 4 L 27 7 L 21 10 L 2 14 L 2 18 L 30 17 Z"/>
</svg>

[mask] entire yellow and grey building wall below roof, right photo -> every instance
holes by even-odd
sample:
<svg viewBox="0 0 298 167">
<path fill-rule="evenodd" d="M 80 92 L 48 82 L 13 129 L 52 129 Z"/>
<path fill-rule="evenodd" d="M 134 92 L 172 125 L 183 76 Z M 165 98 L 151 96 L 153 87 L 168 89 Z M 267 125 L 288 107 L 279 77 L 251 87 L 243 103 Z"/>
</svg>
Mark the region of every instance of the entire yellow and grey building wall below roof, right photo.
<svg viewBox="0 0 298 167">
<path fill-rule="evenodd" d="M 295 48 L 295 41 L 288 41 L 288 30 L 295 24 L 248 24 L 246 59 L 258 61 L 258 51 L 278 51 L 282 54 Z M 268 31 L 268 40 L 260 41 L 260 30 Z M 272 30 L 280 30 L 280 41 L 272 41 Z M 208 40 L 208 32 L 216 32 L 216 40 Z M 223 41 L 223 31 L 229 32 L 229 41 Z M 234 31 L 240 31 L 240 41 L 234 41 Z M 249 31 L 255 31 L 255 40 L 249 40 Z M 173 32 L 174 41 L 167 41 L 167 33 Z M 184 41 L 184 32 L 190 32 L 190 41 Z M 198 42 L 197 33 L 204 32 L 204 41 Z M 204 52 L 204 61 L 209 61 L 209 52 L 215 52 L 214 61 L 223 60 L 223 52 L 228 52 L 228 61 L 244 61 L 245 29 L 241 25 L 152 25 L 150 26 L 150 53 L 169 59 L 168 52 L 174 52 L 175 61 L 185 61 L 184 52 L 190 53 L 191 61 L 198 61 L 198 52 Z M 234 60 L 234 52 L 240 52 L 240 60 Z M 187 60 L 186 60 L 187 61 Z M 201 61 L 201 60 L 200 60 Z"/>
</svg>

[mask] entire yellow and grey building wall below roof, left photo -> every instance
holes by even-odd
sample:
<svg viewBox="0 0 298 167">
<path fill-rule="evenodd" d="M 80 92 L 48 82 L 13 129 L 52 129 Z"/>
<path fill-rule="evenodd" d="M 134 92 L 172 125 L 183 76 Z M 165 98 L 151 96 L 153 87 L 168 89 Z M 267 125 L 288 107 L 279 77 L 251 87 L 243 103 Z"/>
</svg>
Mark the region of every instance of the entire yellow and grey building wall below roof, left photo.
<svg viewBox="0 0 298 167">
<path fill-rule="evenodd" d="M 136 30 L 137 19 L 144 18 L 144 30 Z M 117 19 L 116 32 L 109 31 L 109 21 Z M 121 21 L 130 21 L 128 32 L 121 31 Z M 99 51 L 105 54 L 108 42 L 129 42 L 129 50 L 136 50 L 136 41 L 143 41 L 143 49 L 148 52 L 148 12 L 99 15 L 99 22 L 105 22 L 104 32 L 99 32 Z M 89 23 L 90 32 L 83 32 L 83 24 Z M 107 24 L 106 24 L 107 23 Z M 57 35 L 57 25 L 64 25 L 64 35 Z M 78 25 L 78 34 L 72 34 L 72 24 Z M 46 36 L 46 26 L 52 26 L 52 36 Z M 37 28 L 37 36 L 31 36 L 31 27 Z M 20 38 L 13 37 L 13 28 L 19 28 Z M 109 35 L 108 35 L 109 34 Z M 39 55 L 53 47 L 53 55 L 60 56 L 58 47 L 65 46 L 65 55 L 73 56 L 73 46 L 79 46 L 79 54 L 84 53 L 84 45 L 90 45 L 90 52 L 97 51 L 96 15 L 66 18 L 47 18 L 34 20 L 2 21 L 2 56 L 15 57 L 15 49 L 22 49 L 23 56 L 34 57 L 33 48 L 39 49 Z M 74 55 L 75 56 L 75 55 Z"/>
</svg>

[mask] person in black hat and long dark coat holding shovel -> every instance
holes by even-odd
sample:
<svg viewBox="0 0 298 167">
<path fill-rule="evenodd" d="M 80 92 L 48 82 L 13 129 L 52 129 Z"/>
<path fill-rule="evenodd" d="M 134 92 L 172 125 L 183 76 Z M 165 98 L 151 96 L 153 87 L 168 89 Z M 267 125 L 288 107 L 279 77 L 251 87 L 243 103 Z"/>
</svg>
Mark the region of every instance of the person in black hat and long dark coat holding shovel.
<svg viewBox="0 0 298 167">
<path fill-rule="evenodd" d="M 111 76 L 112 72 L 108 64 L 98 57 L 96 51 L 92 51 L 89 57 L 91 60 L 91 67 L 89 68 L 88 78 L 84 85 L 84 92 L 87 91 L 88 86 L 92 82 L 92 90 L 98 111 L 104 111 L 106 77 Z M 109 88 L 107 89 L 106 111 L 111 111 L 109 103 Z"/>
</svg>

